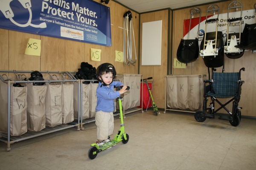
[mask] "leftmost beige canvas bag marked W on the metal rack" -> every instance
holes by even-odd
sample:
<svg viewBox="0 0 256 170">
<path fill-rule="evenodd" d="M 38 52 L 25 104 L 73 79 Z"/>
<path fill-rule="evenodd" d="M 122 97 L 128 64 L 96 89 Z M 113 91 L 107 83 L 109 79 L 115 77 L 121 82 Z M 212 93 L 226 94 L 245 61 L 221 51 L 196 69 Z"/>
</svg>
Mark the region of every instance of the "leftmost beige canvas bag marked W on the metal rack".
<svg viewBox="0 0 256 170">
<path fill-rule="evenodd" d="M 8 78 L 9 79 L 9 78 Z M 8 85 L 0 80 L 0 132 L 8 133 Z M 10 135 L 27 132 L 27 87 L 10 87 Z"/>
</svg>

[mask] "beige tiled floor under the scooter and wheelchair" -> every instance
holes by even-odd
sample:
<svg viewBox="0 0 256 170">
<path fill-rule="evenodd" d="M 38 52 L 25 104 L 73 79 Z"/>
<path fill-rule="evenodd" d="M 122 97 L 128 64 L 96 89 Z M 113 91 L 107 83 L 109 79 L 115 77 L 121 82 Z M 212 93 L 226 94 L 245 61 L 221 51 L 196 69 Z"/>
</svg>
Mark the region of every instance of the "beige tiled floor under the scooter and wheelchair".
<svg viewBox="0 0 256 170">
<path fill-rule="evenodd" d="M 192 113 L 155 116 L 151 110 L 125 115 L 127 144 L 116 144 L 93 160 L 95 123 L 11 145 L 0 142 L 1 170 L 256 170 L 256 120 L 196 122 Z M 217 117 L 217 116 L 216 116 Z M 115 116 L 114 134 L 119 130 Z M 111 136 L 114 138 L 114 136 Z"/>
</svg>

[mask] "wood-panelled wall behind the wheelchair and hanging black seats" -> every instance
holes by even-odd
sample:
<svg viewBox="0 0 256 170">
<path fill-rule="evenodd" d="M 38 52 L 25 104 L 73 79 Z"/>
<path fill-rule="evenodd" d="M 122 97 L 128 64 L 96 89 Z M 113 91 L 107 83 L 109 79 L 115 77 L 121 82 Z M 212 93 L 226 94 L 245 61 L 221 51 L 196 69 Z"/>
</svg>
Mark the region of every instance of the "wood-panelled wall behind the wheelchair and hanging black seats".
<svg viewBox="0 0 256 170">
<path fill-rule="evenodd" d="M 255 0 L 239 0 L 242 3 L 243 11 L 253 9 Z M 227 13 L 228 5 L 233 0 L 216 3 L 220 7 L 220 14 Z M 212 5 L 197 6 L 202 10 L 202 16 L 206 16 L 207 8 Z M 177 48 L 180 43 L 180 39 L 183 38 L 183 20 L 189 19 L 189 10 L 191 8 L 181 9 L 174 11 L 173 15 L 173 53 L 172 60 L 176 58 Z M 240 68 L 244 67 L 245 71 L 241 74 L 241 79 L 245 81 L 242 85 L 242 94 L 239 106 L 242 107 L 241 113 L 243 116 L 256 116 L 254 111 L 254 105 L 256 102 L 256 90 L 254 88 L 256 84 L 256 53 L 251 51 L 245 51 L 244 55 L 239 59 L 230 59 L 224 55 L 225 59 L 225 72 L 238 72 Z M 222 67 L 217 68 L 217 71 L 221 71 Z M 207 67 L 204 65 L 202 57 L 199 57 L 195 62 L 189 63 L 184 68 L 172 68 L 172 74 L 175 75 L 193 75 L 193 74 L 207 74 Z M 208 77 L 208 76 L 207 76 Z M 229 107 L 230 109 L 230 107 Z M 223 112 L 226 113 L 226 112 Z"/>
</svg>

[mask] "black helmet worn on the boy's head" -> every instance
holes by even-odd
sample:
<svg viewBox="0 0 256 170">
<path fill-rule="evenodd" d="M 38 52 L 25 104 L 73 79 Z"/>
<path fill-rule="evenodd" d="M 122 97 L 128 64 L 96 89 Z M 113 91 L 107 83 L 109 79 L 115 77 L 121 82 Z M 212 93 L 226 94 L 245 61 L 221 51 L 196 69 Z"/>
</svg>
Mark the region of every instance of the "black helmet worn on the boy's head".
<svg viewBox="0 0 256 170">
<path fill-rule="evenodd" d="M 106 72 L 106 73 L 112 72 L 113 79 L 116 77 L 116 69 L 115 69 L 115 67 L 111 63 L 106 62 L 106 63 L 103 63 L 103 64 L 99 65 L 98 68 L 96 69 L 96 77 L 99 80 L 99 82 L 102 82 L 103 85 L 106 85 L 105 82 L 103 82 L 102 78 L 101 78 L 101 74 L 103 72 Z M 99 77 L 101 79 L 99 79 Z"/>
</svg>

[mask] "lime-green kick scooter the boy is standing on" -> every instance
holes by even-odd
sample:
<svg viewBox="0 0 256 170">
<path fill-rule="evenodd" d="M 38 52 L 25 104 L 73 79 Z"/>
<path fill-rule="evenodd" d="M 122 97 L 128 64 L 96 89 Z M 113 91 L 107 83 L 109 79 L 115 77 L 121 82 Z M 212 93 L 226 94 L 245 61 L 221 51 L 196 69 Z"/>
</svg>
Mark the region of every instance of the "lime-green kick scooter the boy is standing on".
<svg viewBox="0 0 256 170">
<path fill-rule="evenodd" d="M 114 86 L 114 88 L 117 88 L 118 90 L 120 90 L 122 88 L 122 86 Z M 126 90 L 129 90 L 129 89 L 130 89 L 130 87 L 127 86 Z M 118 103 L 119 103 L 120 120 L 121 120 L 120 130 L 116 134 L 115 139 L 112 139 L 110 142 L 102 144 L 101 146 L 98 146 L 98 144 L 96 144 L 96 143 L 91 144 L 91 147 L 88 150 L 88 157 L 90 159 L 96 158 L 98 153 L 102 152 L 103 150 L 108 149 L 109 147 L 111 147 L 121 141 L 123 144 L 126 144 L 129 140 L 129 135 L 127 133 L 125 133 L 125 125 L 124 125 L 123 113 L 122 113 L 122 100 L 121 100 L 122 97 L 121 97 L 121 95 L 117 99 L 118 99 Z"/>
</svg>

